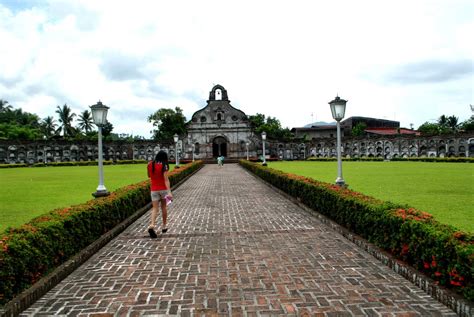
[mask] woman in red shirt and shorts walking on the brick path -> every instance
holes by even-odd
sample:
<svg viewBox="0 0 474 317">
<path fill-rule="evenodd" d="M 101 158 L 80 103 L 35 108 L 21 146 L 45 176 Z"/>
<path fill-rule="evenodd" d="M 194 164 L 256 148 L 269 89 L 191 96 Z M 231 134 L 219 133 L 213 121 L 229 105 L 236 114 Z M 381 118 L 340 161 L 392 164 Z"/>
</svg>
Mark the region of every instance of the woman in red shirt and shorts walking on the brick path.
<svg viewBox="0 0 474 317">
<path fill-rule="evenodd" d="M 167 218 L 168 210 L 166 209 L 166 196 L 168 199 L 173 199 L 171 194 L 170 181 L 168 179 L 168 154 L 165 151 L 160 151 L 156 154 L 155 159 L 148 163 L 148 177 L 151 180 L 151 202 L 153 209 L 151 211 L 150 226 L 148 227 L 148 233 L 150 237 L 157 238 L 155 231 L 156 217 L 158 214 L 158 202 L 161 205 L 161 216 L 163 224 L 161 226 L 161 232 L 165 233 L 168 231 Z"/>
</svg>

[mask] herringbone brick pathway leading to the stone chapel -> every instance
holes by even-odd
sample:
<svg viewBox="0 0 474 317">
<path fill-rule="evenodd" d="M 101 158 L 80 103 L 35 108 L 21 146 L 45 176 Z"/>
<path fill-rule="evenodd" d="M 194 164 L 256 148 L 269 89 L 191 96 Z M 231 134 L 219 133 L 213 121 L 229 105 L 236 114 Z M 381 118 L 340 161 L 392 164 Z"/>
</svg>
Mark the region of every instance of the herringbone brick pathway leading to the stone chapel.
<svg viewBox="0 0 474 317">
<path fill-rule="evenodd" d="M 207 165 L 23 315 L 455 316 L 241 167 Z"/>
</svg>

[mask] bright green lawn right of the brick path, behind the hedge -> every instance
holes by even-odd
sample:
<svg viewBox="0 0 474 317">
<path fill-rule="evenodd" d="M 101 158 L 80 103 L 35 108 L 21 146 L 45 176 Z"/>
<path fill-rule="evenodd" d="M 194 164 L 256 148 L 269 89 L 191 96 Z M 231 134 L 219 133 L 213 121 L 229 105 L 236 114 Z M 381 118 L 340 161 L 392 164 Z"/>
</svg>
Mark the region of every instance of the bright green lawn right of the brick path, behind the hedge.
<svg viewBox="0 0 474 317">
<path fill-rule="evenodd" d="M 269 162 L 285 172 L 334 183 L 337 162 Z M 474 232 L 474 164 L 426 162 L 343 162 L 349 188 L 408 204 L 438 221 Z"/>
</svg>

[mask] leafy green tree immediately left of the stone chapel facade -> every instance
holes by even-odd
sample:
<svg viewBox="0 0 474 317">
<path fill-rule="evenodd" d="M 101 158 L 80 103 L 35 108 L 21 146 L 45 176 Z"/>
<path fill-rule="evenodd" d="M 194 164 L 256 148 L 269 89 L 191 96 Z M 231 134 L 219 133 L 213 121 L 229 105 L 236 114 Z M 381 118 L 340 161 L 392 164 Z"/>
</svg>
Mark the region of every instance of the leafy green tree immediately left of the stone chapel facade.
<svg viewBox="0 0 474 317">
<path fill-rule="evenodd" d="M 186 117 L 179 107 L 173 109 L 161 108 L 148 116 L 148 122 L 153 123 L 153 139 L 157 141 L 173 141 L 173 135 L 186 134 Z"/>
</svg>

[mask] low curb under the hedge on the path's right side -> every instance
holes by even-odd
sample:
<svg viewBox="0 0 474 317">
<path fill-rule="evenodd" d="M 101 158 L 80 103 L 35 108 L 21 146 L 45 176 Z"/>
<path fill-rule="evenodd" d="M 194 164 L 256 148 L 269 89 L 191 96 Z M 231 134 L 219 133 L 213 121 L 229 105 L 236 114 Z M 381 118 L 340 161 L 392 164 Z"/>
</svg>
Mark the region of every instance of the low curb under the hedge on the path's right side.
<svg viewBox="0 0 474 317">
<path fill-rule="evenodd" d="M 453 291 L 446 289 L 442 286 L 436 285 L 435 281 L 432 280 L 430 277 L 424 275 L 423 273 L 419 272 L 415 268 L 407 265 L 404 262 L 397 260 L 393 255 L 388 252 L 383 251 L 376 245 L 368 242 L 364 238 L 350 232 L 340 224 L 334 222 L 333 220 L 329 219 L 328 217 L 318 213 L 316 210 L 313 210 L 303 204 L 298 199 L 294 198 L 293 196 L 288 195 L 281 189 L 267 183 L 265 180 L 261 179 L 257 175 L 251 173 L 241 165 L 239 165 L 245 172 L 252 175 L 268 187 L 272 188 L 282 196 L 288 198 L 293 203 L 298 205 L 301 209 L 307 211 L 311 215 L 318 218 L 322 223 L 329 226 L 331 229 L 336 231 L 337 233 L 344 236 L 346 239 L 351 241 L 352 243 L 356 244 L 358 247 L 364 249 L 370 255 L 375 257 L 377 260 L 382 262 L 384 265 L 391 268 L 397 274 L 400 274 L 405 279 L 409 280 L 414 285 L 418 286 L 422 289 L 426 294 L 430 295 L 438 302 L 446 305 L 447 307 L 451 308 L 456 314 L 461 317 L 470 317 L 474 316 L 474 303 L 469 302 L 462 298 L 460 295 L 454 293 Z"/>
</svg>

